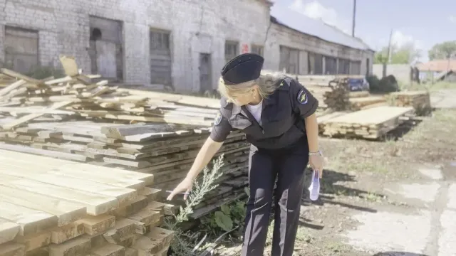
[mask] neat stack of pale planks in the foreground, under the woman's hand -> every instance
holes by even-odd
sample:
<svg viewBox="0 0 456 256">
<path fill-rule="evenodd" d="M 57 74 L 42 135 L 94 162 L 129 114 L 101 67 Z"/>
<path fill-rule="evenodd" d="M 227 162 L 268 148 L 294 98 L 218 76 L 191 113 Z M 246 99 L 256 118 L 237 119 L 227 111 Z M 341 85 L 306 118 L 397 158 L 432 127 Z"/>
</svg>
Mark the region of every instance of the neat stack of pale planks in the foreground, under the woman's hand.
<svg viewBox="0 0 456 256">
<path fill-rule="evenodd" d="M 0 150 L 0 255 L 167 255 L 153 176 Z"/>
</svg>

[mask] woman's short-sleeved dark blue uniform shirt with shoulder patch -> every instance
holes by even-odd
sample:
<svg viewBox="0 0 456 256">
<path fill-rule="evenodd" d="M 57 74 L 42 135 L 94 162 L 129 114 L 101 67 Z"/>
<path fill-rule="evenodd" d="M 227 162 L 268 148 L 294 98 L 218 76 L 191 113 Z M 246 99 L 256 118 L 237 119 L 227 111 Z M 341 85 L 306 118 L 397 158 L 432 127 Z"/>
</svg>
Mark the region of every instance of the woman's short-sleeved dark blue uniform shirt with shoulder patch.
<svg viewBox="0 0 456 256">
<path fill-rule="evenodd" d="M 263 99 L 261 125 L 247 107 L 239 107 L 222 97 L 211 139 L 223 142 L 229 132 L 239 129 L 246 134 L 247 141 L 258 148 L 280 149 L 306 136 L 304 118 L 316 112 L 318 100 L 292 78 L 279 82 L 280 86 Z"/>
</svg>

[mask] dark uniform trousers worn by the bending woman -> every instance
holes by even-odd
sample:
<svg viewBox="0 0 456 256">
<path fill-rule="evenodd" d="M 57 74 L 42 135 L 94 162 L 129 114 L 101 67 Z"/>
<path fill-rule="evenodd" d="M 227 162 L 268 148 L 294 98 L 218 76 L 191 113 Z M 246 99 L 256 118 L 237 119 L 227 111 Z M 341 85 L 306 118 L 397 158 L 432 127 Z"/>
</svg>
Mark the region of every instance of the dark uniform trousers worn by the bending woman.
<svg viewBox="0 0 456 256">
<path fill-rule="evenodd" d="M 304 190 L 304 170 L 308 161 L 306 139 L 284 149 L 257 149 L 252 146 L 249 156 L 250 196 L 242 256 L 263 256 L 276 178 L 272 256 L 293 255 Z"/>
</svg>

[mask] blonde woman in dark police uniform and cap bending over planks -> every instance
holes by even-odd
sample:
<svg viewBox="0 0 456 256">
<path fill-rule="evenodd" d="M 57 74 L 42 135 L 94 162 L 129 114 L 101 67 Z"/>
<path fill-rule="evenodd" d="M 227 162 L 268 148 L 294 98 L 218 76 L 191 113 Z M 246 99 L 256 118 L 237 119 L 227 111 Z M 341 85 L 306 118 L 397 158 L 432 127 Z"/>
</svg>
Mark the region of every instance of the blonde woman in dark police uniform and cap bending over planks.
<svg viewBox="0 0 456 256">
<path fill-rule="evenodd" d="M 242 256 L 262 256 L 277 179 L 272 256 L 291 256 L 299 225 L 304 169 L 321 177 L 318 149 L 318 100 L 296 80 L 260 75 L 264 58 L 246 53 L 222 69 L 220 111 L 187 177 L 170 193 L 190 192 L 195 178 L 233 129 L 251 143 L 249 188 Z M 186 199 L 187 196 L 185 196 Z"/>
</svg>

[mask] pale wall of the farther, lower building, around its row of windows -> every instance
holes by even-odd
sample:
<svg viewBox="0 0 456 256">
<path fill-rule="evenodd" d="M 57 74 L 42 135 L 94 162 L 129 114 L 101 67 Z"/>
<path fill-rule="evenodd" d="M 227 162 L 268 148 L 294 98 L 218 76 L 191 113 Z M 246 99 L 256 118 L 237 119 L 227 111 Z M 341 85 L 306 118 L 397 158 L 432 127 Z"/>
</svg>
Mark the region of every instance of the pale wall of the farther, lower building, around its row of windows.
<svg viewBox="0 0 456 256">
<path fill-rule="evenodd" d="M 308 58 L 309 53 L 317 53 L 334 58 L 342 58 L 352 61 L 361 61 L 361 70 L 359 75 L 365 75 L 367 72 L 367 59 L 370 59 L 369 69 L 372 70 L 373 52 L 368 50 L 358 50 L 341 46 L 336 43 L 323 41 L 314 36 L 299 33 L 286 26 L 276 23 L 271 24 L 266 40 L 265 63 L 264 68 L 267 70 L 279 70 L 280 68 L 280 46 L 287 46 L 301 50 L 299 53 L 299 73 L 300 75 L 309 74 Z M 323 60 L 323 67 L 325 66 Z M 324 72 L 324 70 L 323 70 Z"/>
</svg>

